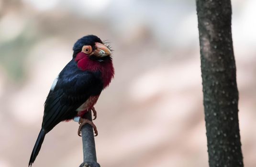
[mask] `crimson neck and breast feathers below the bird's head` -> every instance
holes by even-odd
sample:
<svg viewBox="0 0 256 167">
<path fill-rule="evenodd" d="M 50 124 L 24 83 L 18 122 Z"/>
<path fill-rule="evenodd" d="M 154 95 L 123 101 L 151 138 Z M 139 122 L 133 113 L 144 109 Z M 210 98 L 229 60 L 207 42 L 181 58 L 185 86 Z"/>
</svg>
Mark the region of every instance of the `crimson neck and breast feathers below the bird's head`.
<svg viewBox="0 0 256 167">
<path fill-rule="evenodd" d="M 98 72 L 100 71 L 103 80 L 103 86 L 106 88 L 111 79 L 114 76 L 114 67 L 111 59 L 105 60 L 103 62 L 98 62 L 91 60 L 88 56 L 84 56 L 81 59 L 76 59 L 78 68 L 82 71 Z"/>
</svg>

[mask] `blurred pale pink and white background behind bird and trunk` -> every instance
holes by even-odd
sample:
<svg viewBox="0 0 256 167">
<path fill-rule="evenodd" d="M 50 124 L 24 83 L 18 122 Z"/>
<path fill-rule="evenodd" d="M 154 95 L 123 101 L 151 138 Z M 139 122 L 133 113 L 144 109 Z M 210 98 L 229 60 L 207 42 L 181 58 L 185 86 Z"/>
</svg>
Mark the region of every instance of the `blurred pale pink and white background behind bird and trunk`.
<svg viewBox="0 0 256 167">
<path fill-rule="evenodd" d="M 256 1 L 232 0 L 239 121 L 256 167 Z M 96 109 L 102 167 L 207 167 L 195 0 L 0 0 L 0 167 L 26 167 L 51 84 L 73 44 L 114 49 L 115 78 Z M 78 123 L 45 137 L 34 167 L 78 167 Z"/>
</svg>

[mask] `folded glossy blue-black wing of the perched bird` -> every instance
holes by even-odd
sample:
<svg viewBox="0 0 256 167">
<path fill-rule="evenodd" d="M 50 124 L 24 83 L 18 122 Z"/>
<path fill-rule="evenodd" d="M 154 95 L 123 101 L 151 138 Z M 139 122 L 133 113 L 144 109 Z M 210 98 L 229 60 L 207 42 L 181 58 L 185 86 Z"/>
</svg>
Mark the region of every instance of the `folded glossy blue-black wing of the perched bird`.
<svg viewBox="0 0 256 167">
<path fill-rule="evenodd" d="M 72 119 L 76 109 L 90 96 L 99 95 L 103 89 L 100 73 L 88 71 L 59 76 L 45 101 L 42 127 L 49 132 L 59 122 Z"/>
</svg>

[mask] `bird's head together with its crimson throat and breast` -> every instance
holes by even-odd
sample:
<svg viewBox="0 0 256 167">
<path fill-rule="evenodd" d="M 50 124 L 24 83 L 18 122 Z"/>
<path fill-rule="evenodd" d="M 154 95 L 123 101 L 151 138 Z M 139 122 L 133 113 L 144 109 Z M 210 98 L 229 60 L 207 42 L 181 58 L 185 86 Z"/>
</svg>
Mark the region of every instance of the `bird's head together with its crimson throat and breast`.
<svg viewBox="0 0 256 167">
<path fill-rule="evenodd" d="M 73 47 L 73 59 L 79 69 L 91 72 L 99 71 L 104 88 L 109 85 L 114 76 L 114 67 L 111 59 L 111 48 L 95 35 L 80 38 Z"/>
</svg>

